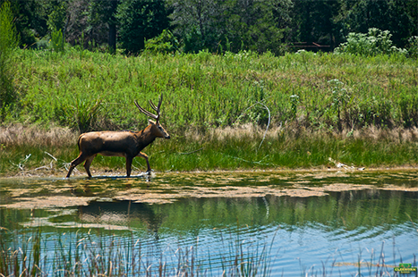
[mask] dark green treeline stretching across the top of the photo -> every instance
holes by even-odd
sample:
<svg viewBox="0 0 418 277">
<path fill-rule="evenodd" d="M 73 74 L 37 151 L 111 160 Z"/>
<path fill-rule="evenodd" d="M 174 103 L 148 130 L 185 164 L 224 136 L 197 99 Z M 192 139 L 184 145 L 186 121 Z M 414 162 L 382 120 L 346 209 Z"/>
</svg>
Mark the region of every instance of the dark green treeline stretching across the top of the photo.
<svg viewBox="0 0 418 277">
<path fill-rule="evenodd" d="M 394 45 L 405 47 L 418 34 L 415 0 L 14 0 L 12 10 L 21 46 L 36 46 L 62 29 L 72 45 L 84 34 L 84 47 L 107 43 L 112 54 L 116 32 L 122 35 L 118 46 L 137 54 L 144 39 L 168 28 L 186 53 L 207 49 L 283 55 L 283 46 L 296 42 L 333 50 L 348 33 L 371 28 L 388 30 Z"/>
</svg>

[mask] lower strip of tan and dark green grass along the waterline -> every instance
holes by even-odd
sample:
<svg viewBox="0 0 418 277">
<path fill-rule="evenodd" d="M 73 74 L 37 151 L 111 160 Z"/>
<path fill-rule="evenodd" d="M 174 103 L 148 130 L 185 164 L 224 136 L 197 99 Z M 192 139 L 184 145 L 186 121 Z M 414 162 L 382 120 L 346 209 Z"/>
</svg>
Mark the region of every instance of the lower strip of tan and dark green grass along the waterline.
<svg viewBox="0 0 418 277">
<path fill-rule="evenodd" d="M 77 134 L 71 130 L 16 129 L 20 131 L 2 129 L 0 174 L 64 175 L 78 155 Z M 151 168 L 159 172 L 335 167 L 329 158 L 354 168 L 415 166 L 418 162 L 416 128 L 367 128 L 342 133 L 271 128 L 265 134 L 263 129 L 246 125 L 208 130 L 205 134 L 187 130 L 175 136 L 166 129 L 172 139 L 157 139 L 143 150 L 149 155 Z M 92 164 L 93 175 L 97 170 L 124 174 L 124 163 L 121 157 L 98 155 Z M 140 157 L 132 165 L 134 172 L 147 170 Z M 82 167 L 79 170 L 85 174 Z"/>
</svg>

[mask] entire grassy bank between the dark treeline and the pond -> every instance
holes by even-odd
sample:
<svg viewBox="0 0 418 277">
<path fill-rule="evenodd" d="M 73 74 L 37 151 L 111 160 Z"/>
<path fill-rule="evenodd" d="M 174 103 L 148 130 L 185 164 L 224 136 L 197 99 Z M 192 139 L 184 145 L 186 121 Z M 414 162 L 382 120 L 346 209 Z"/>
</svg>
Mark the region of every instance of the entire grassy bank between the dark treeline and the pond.
<svg viewBox="0 0 418 277">
<path fill-rule="evenodd" d="M 418 162 L 418 62 L 403 55 L 20 50 L 15 63 L 1 174 L 65 171 L 79 133 L 141 130 L 133 101 L 161 93 L 173 139 L 144 150 L 158 171 L 331 166 L 329 157 L 359 167 Z M 97 157 L 95 166 L 124 169 L 124 159 Z"/>
</svg>

